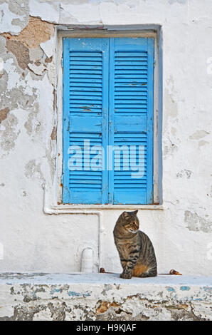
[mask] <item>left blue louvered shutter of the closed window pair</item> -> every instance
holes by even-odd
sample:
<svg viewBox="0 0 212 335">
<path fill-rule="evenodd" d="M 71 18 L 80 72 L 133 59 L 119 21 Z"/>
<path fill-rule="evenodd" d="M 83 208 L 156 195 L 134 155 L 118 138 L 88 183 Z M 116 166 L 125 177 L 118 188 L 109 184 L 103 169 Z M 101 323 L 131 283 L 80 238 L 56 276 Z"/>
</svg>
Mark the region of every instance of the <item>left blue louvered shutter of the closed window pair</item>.
<svg viewBox="0 0 212 335">
<path fill-rule="evenodd" d="M 89 157 L 84 140 L 108 143 L 109 40 L 64 38 L 63 58 L 63 203 L 106 203 L 107 171 L 89 169 L 95 153 Z M 68 168 L 70 145 L 82 149 L 82 170 Z"/>
</svg>

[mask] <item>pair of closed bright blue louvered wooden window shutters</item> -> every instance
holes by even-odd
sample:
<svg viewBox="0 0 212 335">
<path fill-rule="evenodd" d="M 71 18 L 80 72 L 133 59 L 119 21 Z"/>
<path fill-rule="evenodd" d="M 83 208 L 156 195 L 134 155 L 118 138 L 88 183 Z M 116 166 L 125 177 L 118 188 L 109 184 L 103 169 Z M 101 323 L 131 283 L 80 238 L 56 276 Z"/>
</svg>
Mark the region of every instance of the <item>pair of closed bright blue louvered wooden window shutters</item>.
<svg viewBox="0 0 212 335">
<path fill-rule="evenodd" d="M 152 204 L 154 38 L 64 38 L 63 203 Z"/>
</svg>

